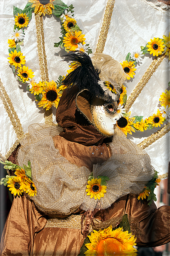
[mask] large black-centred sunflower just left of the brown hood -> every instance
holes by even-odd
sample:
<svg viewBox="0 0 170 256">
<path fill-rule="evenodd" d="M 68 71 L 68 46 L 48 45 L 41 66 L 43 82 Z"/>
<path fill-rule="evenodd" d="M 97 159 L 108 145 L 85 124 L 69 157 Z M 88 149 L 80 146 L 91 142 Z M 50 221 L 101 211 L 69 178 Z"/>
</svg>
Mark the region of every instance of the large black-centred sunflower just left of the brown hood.
<svg viewBox="0 0 170 256">
<path fill-rule="evenodd" d="M 39 107 L 46 107 L 46 110 L 49 110 L 53 105 L 57 108 L 61 98 L 61 93 L 60 90 L 57 89 L 56 83 L 52 80 L 52 82 L 46 82 L 43 86 L 43 98 L 38 103 Z"/>
</svg>

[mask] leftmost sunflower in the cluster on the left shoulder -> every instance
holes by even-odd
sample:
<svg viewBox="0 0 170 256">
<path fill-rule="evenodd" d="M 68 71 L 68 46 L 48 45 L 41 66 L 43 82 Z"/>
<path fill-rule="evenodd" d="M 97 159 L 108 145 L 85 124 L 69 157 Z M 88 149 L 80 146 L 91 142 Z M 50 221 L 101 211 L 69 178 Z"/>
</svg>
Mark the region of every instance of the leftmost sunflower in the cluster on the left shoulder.
<svg viewBox="0 0 170 256">
<path fill-rule="evenodd" d="M 22 194 L 24 183 L 21 181 L 21 177 L 10 177 L 7 184 L 12 194 L 18 196 Z"/>
</svg>

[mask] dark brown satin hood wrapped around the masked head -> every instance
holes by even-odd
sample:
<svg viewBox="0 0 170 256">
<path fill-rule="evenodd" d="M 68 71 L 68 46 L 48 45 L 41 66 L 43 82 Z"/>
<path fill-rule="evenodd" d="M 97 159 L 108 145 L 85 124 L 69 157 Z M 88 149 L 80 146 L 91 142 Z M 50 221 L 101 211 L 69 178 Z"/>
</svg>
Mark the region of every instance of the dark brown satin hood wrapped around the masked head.
<svg viewBox="0 0 170 256">
<path fill-rule="evenodd" d="M 64 129 L 60 135 L 85 146 L 102 143 L 105 137 L 77 110 L 75 100 L 78 91 L 76 86 L 73 86 L 69 92 L 65 89 L 59 101 L 56 121 Z"/>
</svg>

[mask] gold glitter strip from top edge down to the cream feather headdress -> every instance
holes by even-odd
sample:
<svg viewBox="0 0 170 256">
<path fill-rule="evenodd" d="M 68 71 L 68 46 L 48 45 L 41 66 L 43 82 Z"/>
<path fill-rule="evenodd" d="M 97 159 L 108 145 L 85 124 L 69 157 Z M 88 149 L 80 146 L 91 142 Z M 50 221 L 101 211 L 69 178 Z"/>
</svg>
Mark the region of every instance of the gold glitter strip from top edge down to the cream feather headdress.
<svg viewBox="0 0 170 256">
<path fill-rule="evenodd" d="M 113 12 L 114 4 L 115 4 L 115 0 L 108 0 L 107 1 L 105 13 L 104 13 L 104 18 L 103 18 L 103 24 L 102 24 L 102 27 L 101 27 L 101 30 L 100 30 L 100 36 L 99 36 L 99 39 L 98 39 L 98 42 L 97 42 L 95 53 L 103 53 L 104 46 L 105 46 L 105 43 L 106 43 L 107 34 L 108 34 L 108 30 L 109 30 L 110 21 L 111 21 L 111 18 L 112 18 L 112 12 Z"/>
</svg>

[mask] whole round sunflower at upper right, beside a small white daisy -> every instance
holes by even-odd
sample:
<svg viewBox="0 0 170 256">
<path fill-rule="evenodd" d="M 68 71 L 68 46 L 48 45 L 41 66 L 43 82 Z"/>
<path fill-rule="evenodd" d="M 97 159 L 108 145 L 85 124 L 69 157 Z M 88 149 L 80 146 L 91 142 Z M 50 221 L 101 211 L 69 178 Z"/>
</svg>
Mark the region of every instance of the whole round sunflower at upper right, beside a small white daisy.
<svg viewBox="0 0 170 256">
<path fill-rule="evenodd" d="M 151 42 L 148 42 L 148 45 L 146 46 L 148 47 L 148 52 L 150 52 L 150 54 L 153 54 L 153 56 L 158 56 L 158 55 L 161 55 L 162 52 L 164 52 L 164 42 L 159 39 L 158 37 L 155 38 L 152 40 L 151 39 Z"/>
</svg>

